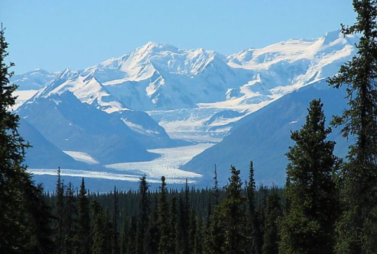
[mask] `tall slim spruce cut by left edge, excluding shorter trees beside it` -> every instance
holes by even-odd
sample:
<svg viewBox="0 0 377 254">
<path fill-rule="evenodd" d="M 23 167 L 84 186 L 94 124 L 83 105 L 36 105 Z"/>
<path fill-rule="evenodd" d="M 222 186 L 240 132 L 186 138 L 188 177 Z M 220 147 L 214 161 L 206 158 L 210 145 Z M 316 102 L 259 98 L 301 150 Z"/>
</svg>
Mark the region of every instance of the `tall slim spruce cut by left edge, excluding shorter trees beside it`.
<svg viewBox="0 0 377 254">
<path fill-rule="evenodd" d="M 23 165 L 25 149 L 29 147 L 18 134 L 19 117 L 10 111 L 16 97 L 12 93 L 17 89 L 9 79 L 14 63 L 6 64 L 8 43 L 5 40 L 5 28 L 0 27 L 0 253 L 26 251 L 29 240 L 28 226 L 24 215 L 24 189 L 31 183 L 31 177 Z"/>
</svg>

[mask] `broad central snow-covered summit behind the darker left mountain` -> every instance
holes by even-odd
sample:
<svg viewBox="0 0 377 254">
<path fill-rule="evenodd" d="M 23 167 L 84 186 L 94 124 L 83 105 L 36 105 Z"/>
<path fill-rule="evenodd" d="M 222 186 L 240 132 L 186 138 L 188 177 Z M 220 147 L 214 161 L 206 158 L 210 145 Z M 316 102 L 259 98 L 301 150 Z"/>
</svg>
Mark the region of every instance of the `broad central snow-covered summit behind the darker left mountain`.
<svg viewBox="0 0 377 254">
<path fill-rule="evenodd" d="M 92 73 L 124 105 L 143 111 L 222 101 L 229 86 L 251 78 L 244 70 L 229 67 L 225 56 L 214 51 L 151 42 L 82 73 Z"/>
</svg>

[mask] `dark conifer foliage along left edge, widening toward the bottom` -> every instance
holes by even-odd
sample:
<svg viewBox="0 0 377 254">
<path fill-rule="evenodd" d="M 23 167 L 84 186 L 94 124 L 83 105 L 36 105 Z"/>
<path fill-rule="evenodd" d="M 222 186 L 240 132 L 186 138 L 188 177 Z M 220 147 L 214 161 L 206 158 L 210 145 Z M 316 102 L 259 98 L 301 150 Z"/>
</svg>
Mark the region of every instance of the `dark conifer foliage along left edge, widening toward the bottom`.
<svg viewBox="0 0 377 254">
<path fill-rule="evenodd" d="M 0 27 L 0 253 L 51 253 L 50 208 L 42 185 L 34 185 L 23 165 L 30 147 L 18 134 L 19 117 L 11 111 L 17 85 L 10 84 L 14 63 L 6 64 L 8 43 Z"/>
</svg>

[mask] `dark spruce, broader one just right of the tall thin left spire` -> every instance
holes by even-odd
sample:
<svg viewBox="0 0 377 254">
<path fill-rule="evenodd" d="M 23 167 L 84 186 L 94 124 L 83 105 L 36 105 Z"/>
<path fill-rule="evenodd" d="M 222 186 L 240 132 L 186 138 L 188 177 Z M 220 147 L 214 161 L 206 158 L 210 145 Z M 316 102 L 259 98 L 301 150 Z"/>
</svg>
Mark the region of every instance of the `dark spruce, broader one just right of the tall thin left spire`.
<svg viewBox="0 0 377 254">
<path fill-rule="evenodd" d="M 91 253 L 90 237 L 90 211 L 87 190 L 85 188 L 84 177 L 82 178 L 79 194 L 77 197 L 77 241 L 76 253 Z"/>
</svg>

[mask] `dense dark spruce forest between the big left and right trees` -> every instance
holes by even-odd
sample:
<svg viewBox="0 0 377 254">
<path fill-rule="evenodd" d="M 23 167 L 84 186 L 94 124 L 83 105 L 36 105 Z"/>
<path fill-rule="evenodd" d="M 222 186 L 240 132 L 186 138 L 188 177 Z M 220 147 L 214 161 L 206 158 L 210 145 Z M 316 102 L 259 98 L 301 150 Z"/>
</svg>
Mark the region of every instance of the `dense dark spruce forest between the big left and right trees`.
<svg viewBox="0 0 377 254">
<path fill-rule="evenodd" d="M 168 189 L 163 176 L 151 191 L 143 176 L 139 190 L 107 194 L 89 193 L 84 178 L 79 189 L 65 185 L 58 171 L 56 191 L 44 197 L 55 253 L 272 253 L 284 190 L 256 188 L 252 162 L 245 184 L 230 170 L 222 188 L 215 170 L 210 188 Z"/>
</svg>

